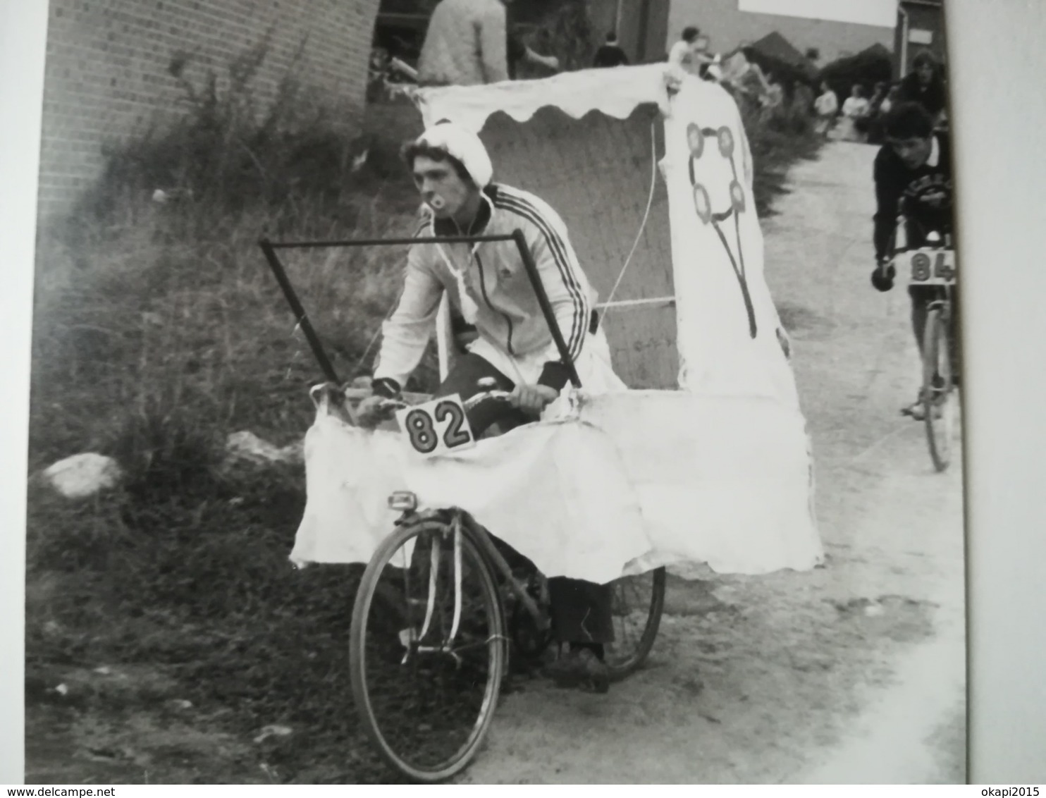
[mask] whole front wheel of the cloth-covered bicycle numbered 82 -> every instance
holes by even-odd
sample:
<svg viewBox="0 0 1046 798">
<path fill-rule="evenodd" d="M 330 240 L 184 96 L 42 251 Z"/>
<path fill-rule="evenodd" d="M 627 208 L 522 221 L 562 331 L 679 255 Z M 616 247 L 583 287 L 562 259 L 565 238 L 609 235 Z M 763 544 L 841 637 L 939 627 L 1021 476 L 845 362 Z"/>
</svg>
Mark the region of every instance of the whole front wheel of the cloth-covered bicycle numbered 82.
<svg viewBox="0 0 1046 798">
<path fill-rule="evenodd" d="M 472 532 L 427 519 L 389 535 L 363 574 L 349 635 L 353 697 L 386 761 L 416 781 L 464 769 L 507 656 L 501 599 Z"/>
</svg>

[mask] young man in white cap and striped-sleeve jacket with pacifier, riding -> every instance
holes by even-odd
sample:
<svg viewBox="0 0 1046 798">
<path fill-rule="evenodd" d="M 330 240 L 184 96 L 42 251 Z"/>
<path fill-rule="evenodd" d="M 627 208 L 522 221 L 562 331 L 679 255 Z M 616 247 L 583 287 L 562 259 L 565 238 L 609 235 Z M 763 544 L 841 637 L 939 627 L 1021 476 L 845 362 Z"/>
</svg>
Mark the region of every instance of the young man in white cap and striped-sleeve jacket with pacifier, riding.
<svg viewBox="0 0 1046 798">
<path fill-rule="evenodd" d="M 404 149 L 404 160 L 425 203 L 418 236 L 511 234 L 522 230 L 582 385 L 596 392 L 623 389 L 593 311 L 595 292 L 577 264 L 559 214 L 538 197 L 493 182 L 493 165 L 479 137 L 440 122 Z M 436 396 L 462 401 L 493 381 L 510 392 L 508 403 L 481 402 L 469 411 L 473 433 L 531 420 L 560 395 L 568 381 L 548 323 L 515 242 L 415 244 L 407 256 L 403 293 L 383 326 L 372 378 L 373 396 L 358 409 L 362 419 L 380 414 L 417 366 L 435 326 L 444 294 L 475 329 Z M 566 657 L 549 666 L 562 682 L 607 683 L 604 644 L 613 642 L 610 590 L 568 578 L 549 579 L 556 637 Z"/>
</svg>

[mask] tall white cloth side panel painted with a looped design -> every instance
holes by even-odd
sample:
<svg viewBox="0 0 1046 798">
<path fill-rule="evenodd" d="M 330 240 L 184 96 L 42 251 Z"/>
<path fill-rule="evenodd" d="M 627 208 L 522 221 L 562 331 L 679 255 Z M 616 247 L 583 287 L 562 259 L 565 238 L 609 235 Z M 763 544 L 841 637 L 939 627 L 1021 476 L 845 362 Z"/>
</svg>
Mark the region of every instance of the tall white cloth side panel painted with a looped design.
<svg viewBox="0 0 1046 798">
<path fill-rule="evenodd" d="M 764 276 L 752 158 L 737 107 L 720 87 L 684 79 L 664 137 L 679 385 L 798 407 L 791 342 Z"/>
</svg>

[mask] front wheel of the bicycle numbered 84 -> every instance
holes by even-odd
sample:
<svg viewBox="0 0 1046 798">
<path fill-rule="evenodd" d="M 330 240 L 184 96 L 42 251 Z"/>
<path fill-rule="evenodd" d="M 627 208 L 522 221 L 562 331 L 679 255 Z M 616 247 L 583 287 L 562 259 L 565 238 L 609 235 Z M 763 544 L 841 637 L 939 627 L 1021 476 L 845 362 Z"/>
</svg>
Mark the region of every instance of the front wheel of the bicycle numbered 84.
<svg viewBox="0 0 1046 798">
<path fill-rule="evenodd" d="M 927 316 L 923 337 L 923 410 L 930 458 L 938 472 L 952 460 L 955 409 L 948 319 L 940 307 L 934 307 Z"/>
</svg>

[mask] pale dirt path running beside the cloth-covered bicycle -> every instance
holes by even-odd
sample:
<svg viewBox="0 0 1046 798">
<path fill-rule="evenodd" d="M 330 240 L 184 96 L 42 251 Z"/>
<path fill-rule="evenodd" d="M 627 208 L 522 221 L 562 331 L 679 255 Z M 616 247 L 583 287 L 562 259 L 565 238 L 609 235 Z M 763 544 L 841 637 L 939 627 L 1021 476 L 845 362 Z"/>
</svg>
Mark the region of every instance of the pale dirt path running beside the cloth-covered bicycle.
<svg viewBox="0 0 1046 798">
<path fill-rule="evenodd" d="M 907 295 L 868 283 L 873 156 L 829 144 L 765 225 L 827 567 L 672 579 L 647 669 L 609 697 L 524 685 L 463 781 L 964 780 L 961 472 L 899 414 L 917 360 Z"/>
</svg>

